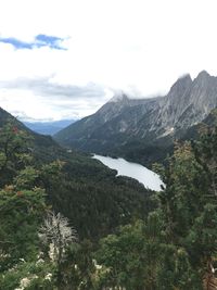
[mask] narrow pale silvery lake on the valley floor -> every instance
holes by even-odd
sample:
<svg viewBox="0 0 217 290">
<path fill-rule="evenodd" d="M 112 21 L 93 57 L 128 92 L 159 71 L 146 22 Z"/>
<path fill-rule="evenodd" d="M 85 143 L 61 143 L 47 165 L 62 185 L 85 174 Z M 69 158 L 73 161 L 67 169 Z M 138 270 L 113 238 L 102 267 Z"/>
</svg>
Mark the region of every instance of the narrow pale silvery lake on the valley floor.
<svg viewBox="0 0 217 290">
<path fill-rule="evenodd" d="M 128 162 L 124 159 L 112 159 L 97 154 L 93 155 L 93 159 L 101 161 L 104 165 L 112 169 L 116 169 L 117 175 L 132 177 L 143 184 L 146 188 L 156 191 L 161 190 L 163 181 L 159 176 L 140 164 Z"/>
</svg>

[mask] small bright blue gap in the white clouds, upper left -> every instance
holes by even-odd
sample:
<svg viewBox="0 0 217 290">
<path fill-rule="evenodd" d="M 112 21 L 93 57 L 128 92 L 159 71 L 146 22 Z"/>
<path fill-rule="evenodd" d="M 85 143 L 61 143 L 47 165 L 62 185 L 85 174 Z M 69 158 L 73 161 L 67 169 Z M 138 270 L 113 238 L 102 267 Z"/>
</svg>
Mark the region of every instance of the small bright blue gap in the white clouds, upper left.
<svg viewBox="0 0 217 290">
<path fill-rule="evenodd" d="M 48 36 L 42 34 L 37 35 L 33 42 L 22 41 L 13 37 L 7 37 L 7 38 L 0 37 L 0 42 L 10 43 L 15 49 L 34 49 L 34 48 L 49 47 L 51 49 L 66 50 L 61 46 L 61 42 L 64 39 L 60 37 Z"/>
</svg>

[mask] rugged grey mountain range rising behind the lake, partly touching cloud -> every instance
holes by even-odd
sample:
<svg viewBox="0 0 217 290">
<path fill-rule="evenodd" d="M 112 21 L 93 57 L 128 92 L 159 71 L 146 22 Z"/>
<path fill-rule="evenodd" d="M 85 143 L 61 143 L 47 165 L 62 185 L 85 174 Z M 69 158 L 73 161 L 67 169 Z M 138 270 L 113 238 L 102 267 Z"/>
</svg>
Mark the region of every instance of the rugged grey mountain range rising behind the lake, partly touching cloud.
<svg viewBox="0 0 217 290">
<path fill-rule="evenodd" d="M 202 71 L 179 78 L 164 97 L 116 96 L 95 114 L 54 135 L 63 146 L 125 156 L 150 165 L 162 161 L 173 140 L 202 122 L 217 106 L 217 77 Z"/>
</svg>

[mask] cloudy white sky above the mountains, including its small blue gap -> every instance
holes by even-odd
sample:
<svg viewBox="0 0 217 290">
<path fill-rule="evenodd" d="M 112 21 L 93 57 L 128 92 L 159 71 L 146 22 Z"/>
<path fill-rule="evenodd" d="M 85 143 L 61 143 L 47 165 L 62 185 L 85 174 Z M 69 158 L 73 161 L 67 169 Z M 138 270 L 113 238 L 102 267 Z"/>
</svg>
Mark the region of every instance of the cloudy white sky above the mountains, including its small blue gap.
<svg viewBox="0 0 217 290">
<path fill-rule="evenodd" d="M 216 0 L 2 0 L 0 106 L 22 121 L 81 118 L 114 94 L 165 94 L 217 76 Z"/>
</svg>

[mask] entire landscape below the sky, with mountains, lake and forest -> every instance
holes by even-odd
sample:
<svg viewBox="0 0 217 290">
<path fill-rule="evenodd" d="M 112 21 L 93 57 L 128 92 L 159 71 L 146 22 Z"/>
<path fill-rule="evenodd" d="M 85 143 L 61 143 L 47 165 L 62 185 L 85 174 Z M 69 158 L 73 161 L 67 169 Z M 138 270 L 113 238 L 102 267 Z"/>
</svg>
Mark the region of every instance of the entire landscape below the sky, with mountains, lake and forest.
<svg viewBox="0 0 217 290">
<path fill-rule="evenodd" d="M 53 138 L 0 109 L 0 289 L 217 285 L 216 91 L 206 72 L 184 76 Z"/>
</svg>

